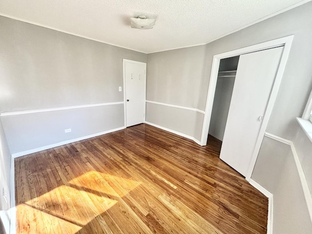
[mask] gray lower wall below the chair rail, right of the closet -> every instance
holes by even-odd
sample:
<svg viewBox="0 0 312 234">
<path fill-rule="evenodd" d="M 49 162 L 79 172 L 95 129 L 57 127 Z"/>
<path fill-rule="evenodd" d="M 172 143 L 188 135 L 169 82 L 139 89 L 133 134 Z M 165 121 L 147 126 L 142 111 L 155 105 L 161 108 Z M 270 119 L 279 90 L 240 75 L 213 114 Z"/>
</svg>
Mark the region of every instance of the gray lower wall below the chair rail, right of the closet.
<svg viewBox="0 0 312 234">
<path fill-rule="evenodd" d="M 264 137 L 252 179 L 273 194 L 273 234 L 312 233 L 312 222 L 289 145 Z"/>
</svg>

